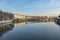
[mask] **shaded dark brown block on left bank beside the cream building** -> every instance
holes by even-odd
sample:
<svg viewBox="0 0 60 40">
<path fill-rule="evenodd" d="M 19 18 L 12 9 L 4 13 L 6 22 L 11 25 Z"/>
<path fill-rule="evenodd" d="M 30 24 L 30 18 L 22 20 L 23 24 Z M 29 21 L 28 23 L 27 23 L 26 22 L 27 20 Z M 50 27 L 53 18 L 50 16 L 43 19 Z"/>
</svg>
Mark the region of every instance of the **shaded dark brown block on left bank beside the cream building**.
<svg viewBox="0 0 60 40">
<path fill-rule="evenodd" d="M 0 11 L 0 21 L 11 20 L 11 19 L 14 19 L 14 15 L 12 13 Z"/>
</svg>

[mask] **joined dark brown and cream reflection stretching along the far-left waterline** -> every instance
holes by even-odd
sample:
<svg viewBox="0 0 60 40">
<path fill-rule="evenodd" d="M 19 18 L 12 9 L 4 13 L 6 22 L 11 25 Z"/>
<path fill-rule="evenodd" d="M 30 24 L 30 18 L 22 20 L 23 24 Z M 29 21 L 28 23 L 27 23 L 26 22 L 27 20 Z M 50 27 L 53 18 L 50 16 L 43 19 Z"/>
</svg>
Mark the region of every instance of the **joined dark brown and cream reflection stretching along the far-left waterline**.
<svg viewBox="0 0 60 40">
<path fill-rule="evenodd" d="M 14 27 L 23 26 L 25 24 L 31 24 L 32 22 L 21 22 L 21 23 L 9 23 L 9 24 L 0 24 L 0 37 L 11 31 Z"/>
</svg>

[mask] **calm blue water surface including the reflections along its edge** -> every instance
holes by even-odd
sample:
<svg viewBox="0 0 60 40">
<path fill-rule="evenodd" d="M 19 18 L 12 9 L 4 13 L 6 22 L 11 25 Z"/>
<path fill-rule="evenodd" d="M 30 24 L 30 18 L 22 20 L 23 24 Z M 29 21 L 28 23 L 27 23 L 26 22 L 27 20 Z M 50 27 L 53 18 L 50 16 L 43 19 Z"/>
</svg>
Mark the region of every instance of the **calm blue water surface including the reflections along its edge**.
<svg viewBox="0 0 60 40">
<path fill-rule="evenodd" d="M 0 40 L 60 40 L 60 27 L 54 22 L 22 22 L 0 27 Z"/>
</svg>

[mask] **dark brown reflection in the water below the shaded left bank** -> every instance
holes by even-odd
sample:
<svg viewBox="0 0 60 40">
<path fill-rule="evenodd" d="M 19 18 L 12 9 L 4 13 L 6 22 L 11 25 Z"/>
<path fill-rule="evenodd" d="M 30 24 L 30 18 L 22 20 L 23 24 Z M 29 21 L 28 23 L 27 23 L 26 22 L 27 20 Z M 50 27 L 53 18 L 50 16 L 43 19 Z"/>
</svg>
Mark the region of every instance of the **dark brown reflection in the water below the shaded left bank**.
<svg viewBox="0 0 60 40">
<path fill-rule="evenodd" d="M 14 24 L 2 24 L 0 25 L 0 37 L 9 32 L 10 30 L 12 30 L 14 27 Z"/>
</svg>

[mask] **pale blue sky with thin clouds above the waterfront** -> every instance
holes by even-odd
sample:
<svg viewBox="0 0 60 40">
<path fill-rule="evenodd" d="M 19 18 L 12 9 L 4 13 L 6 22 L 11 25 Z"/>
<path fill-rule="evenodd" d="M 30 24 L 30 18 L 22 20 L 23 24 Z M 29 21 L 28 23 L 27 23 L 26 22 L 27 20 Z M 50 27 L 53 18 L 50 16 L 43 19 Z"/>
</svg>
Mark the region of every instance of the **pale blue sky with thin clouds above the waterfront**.
<svg viewBox="0 0 60 40">
<path fill-rule="evenodd" d="M 0 10 L 23 15 L 60 14 L 60 0 L 0 0 Z"/>
</svg>

